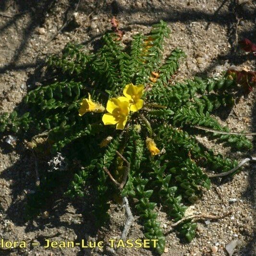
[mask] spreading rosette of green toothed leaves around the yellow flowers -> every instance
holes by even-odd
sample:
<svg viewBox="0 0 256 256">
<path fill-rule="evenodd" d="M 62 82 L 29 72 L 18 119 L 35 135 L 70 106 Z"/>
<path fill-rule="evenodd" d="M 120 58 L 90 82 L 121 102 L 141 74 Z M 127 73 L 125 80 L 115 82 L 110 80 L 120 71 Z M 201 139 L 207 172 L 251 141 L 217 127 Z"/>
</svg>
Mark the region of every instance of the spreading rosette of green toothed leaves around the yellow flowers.
<svg viewBox="0 0 256 256">
<path fill-rule="evenodd" d="M 74 159 L 79 163 L 79 167 L 71 168 L 70 172 L 76 171 L 65 195 L 86 200 L 88 188 L 94 190 L 93 211 L 98 227 L 109 218 L 109 201 L 116 194 L 133 199 L 132 210 L 140 216 L 145 237 L 158 239 L 159 254 L 164 251 L 165 237 L 158 222 L 157 204 L 173 221 L 178 221 L 187 205 L 210 188 L 202 168 L 221 172 L 237 165 L 236 161 L 215 155 L 190 135 L 198 131 L 194 125 L 229 131 L 213 114 L 223 106 L 232 107 L 235 81 L 225 74 L 174 82 L 173 75 L 185 54 L 176 48 L 162 60 L 164 40 L 169 34 L 167 24 L 161 21 L 148 36 L 135 35 L 129 47 L 124 47 L 112 33 L 102 38 L 102 47 L 95 53 L 86 53 L 83 45 L 69 43 L 61 56 L 50 56 L 47 61 L 48 72 L 57 77 L 55 82 L 38 86 L 24 97 L 27 112 L 0 115 L 1 133 L 26 132 L 27 137 L 32 137 L 43 132 L 52 155 L 66 152 L 70 163 Z M 121 96 L 124 86 L 130 83 L 145 86 L 144 106 L 130 113 L 124 130 L 105 126 L 102 113 L 88 111 L 78 115 L 80 103 L 88 93 L 93 102 L 106 107 L 108 99 Z M 243 135 L 209 135 L 239 150 L 252 148 Z M 150 154 L 147 137 L 161 150 L 160 154 Z M 107 169 L 114 179 L 122 181 L 127 163 L 117 156 L 117 151 L 130 164 L 122 191 L 106 173 Z M 40 186 L 28 200 L 27 209 L 32 215 L 38 214 L 58 189 L 60 177 L 66 178 L 60 173 L 41 177 Z M 54 175 L 58 177 L 55 179 Z M 176 227 L 188 242 L 195 237 L 195 230 L 196 224 L 190 220 Z"/>
</svg>

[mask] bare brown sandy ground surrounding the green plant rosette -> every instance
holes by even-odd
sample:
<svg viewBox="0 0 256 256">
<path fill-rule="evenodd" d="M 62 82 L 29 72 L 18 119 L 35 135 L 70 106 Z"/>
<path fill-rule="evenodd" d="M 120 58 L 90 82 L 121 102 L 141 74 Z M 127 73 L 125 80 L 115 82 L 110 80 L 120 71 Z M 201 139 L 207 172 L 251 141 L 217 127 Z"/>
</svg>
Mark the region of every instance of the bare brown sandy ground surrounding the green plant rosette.
<svg viewBox="0 0 256 256">
<path fill-rule="evenodd" d="M 29 86 L 40 85 L 38 66 L 49 53 L 58 53 L 70 40 L 84 43 L 88 50 L 97 49 L 98 39 L 110 29 L 115 15 L 126 32 L 123 42 L 138 32 L 147 33 L 160 19 L 168 22 L 172 35 L 166 40 L 166 54 L 174 47 L 182 48 L 187 59 L 175 79 L 195 75 L 219 75 L 236 65 L 255 69 L 252 55 L 237 49 L 237 40 L 247 37 L 256 42 L 256 5 L 253 1 L 230 0 L 81 0 L 76 13 L 79 27 L 71 24 L 52 39 L 72 15 L 76 1 L 72 0 L 2 0 L 0 4 L 0 112 L 12 111 L 21 102 Z M 38 55 L 39 54 L 39 55 Z M 199 57 L 199 59 L 198 59 Z M 200 59 L 201 58 L 201 59 Z M 219 120 L 233 131 L 256 132 L 256 88 L 249 96 L 241 93 L 232 111 L 219 111 Z M 216 152 L 242 159 L 252 152 L 231 152 L 207 138 L 199 138 Z M 198 221 L 198 234 L 191 244 L 180 241 L 170 230 L 171 221 L 159 210 L 159 220 L 167 233 L 165 255 L 199 256 L 228 255 L 225 246 L 237 240 L 234 255 L 256 255 L 256 165 L 248 165 L 233 179 L 216 180 L 189 210 L 195 214 L 232 214 L 217 221 Z M 70 203 L 60 193 L 44 209 L 44 214 L 32 221 L 23 218 L 26 193 L 35 187 L 34 158 L 21 146 L 15 150 L 0 140 L 0 238 L 25 240 L 27 248 L 0 248 L 0 255 L 108 255 L 108 248 L 45 249 L 45 238 L 56 241 L 81 239 L 105 240 L 118 238 L 125 213 L 112 205 L 109 226 L 97 233 L 86 209 L 87 202 Z M 83 214 L 81 214 L 83 213 Z M 142 238 L 141 226 L 134 223 L 129 238 Z M 146 249 L 126 249 L 123 255 L 152 255 Z"/>
</svg>

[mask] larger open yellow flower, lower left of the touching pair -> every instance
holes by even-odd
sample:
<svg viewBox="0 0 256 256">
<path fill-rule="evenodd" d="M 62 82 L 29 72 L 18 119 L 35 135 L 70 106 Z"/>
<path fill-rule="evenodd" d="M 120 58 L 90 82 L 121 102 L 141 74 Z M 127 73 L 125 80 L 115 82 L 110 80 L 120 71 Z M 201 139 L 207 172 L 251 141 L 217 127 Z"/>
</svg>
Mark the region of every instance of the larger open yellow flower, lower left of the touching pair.
<svg viewBox="0 0 256 256">
<path fill-rule="evenodd" d="M 107 103 L 107 111 L 102 117 L 105 125 L 116 124 L 116 129 L 122 130 L 129 115 L 129 101 L 125 97 L 110 98 Z"/>
</svg>

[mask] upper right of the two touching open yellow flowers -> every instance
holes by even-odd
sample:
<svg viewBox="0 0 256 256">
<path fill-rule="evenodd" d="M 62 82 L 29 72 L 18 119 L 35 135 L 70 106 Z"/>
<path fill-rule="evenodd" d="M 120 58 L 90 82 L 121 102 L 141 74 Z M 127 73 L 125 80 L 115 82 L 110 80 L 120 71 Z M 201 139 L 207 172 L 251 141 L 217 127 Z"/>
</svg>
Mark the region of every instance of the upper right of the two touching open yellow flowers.
<svg viewBox="0 0 256 256">
<path fill-rule="evenodd" d="M 130 110 L 136 112 L 143 107 L 144 100 L 141 99 L 144 90 L 144 85 L 125 85 L 123 95 L 128 98 Z"/>
</svg>

